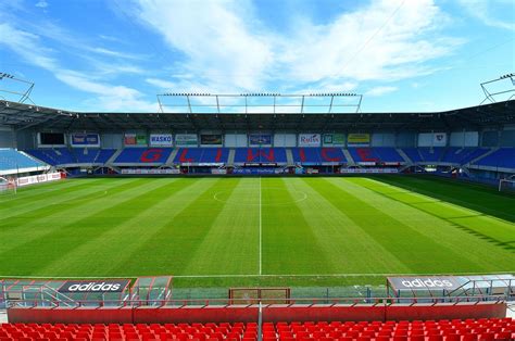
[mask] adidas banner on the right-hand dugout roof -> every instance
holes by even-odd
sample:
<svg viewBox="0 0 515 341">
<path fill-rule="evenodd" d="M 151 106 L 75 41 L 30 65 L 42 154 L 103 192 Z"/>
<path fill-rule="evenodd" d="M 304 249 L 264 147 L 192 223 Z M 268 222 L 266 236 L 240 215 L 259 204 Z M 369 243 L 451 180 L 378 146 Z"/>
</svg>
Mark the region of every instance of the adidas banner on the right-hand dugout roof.
<svg viewBox="0 0 515 341">
<path fill-rule="evenodd" d="M 455 290 L 466 279 L 455 276 L 388 277 L 394 290 Z"/>
</svg>

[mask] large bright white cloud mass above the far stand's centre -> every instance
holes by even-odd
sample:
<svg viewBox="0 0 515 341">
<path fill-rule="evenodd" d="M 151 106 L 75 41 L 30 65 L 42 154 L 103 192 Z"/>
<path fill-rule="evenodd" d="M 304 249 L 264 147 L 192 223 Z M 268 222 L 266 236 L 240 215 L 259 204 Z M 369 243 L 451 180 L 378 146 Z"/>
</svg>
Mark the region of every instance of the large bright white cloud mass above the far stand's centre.
<svg viewBox="0 0 515 341">
<path fill-rule="evenodd" d="M 344 91 L 359 81 L 430 74 L 426 62 L 463 43 L 440 34 L 448 17 L 432 0 L 374 0 L 325 25 L 302 16 L 290 35 L 265 29 L 252 9 L 242 14 L 240 1 L 135 1 L 131 15 L 184 53 L 177 72 L 208 88 Z"/>
</svg>

